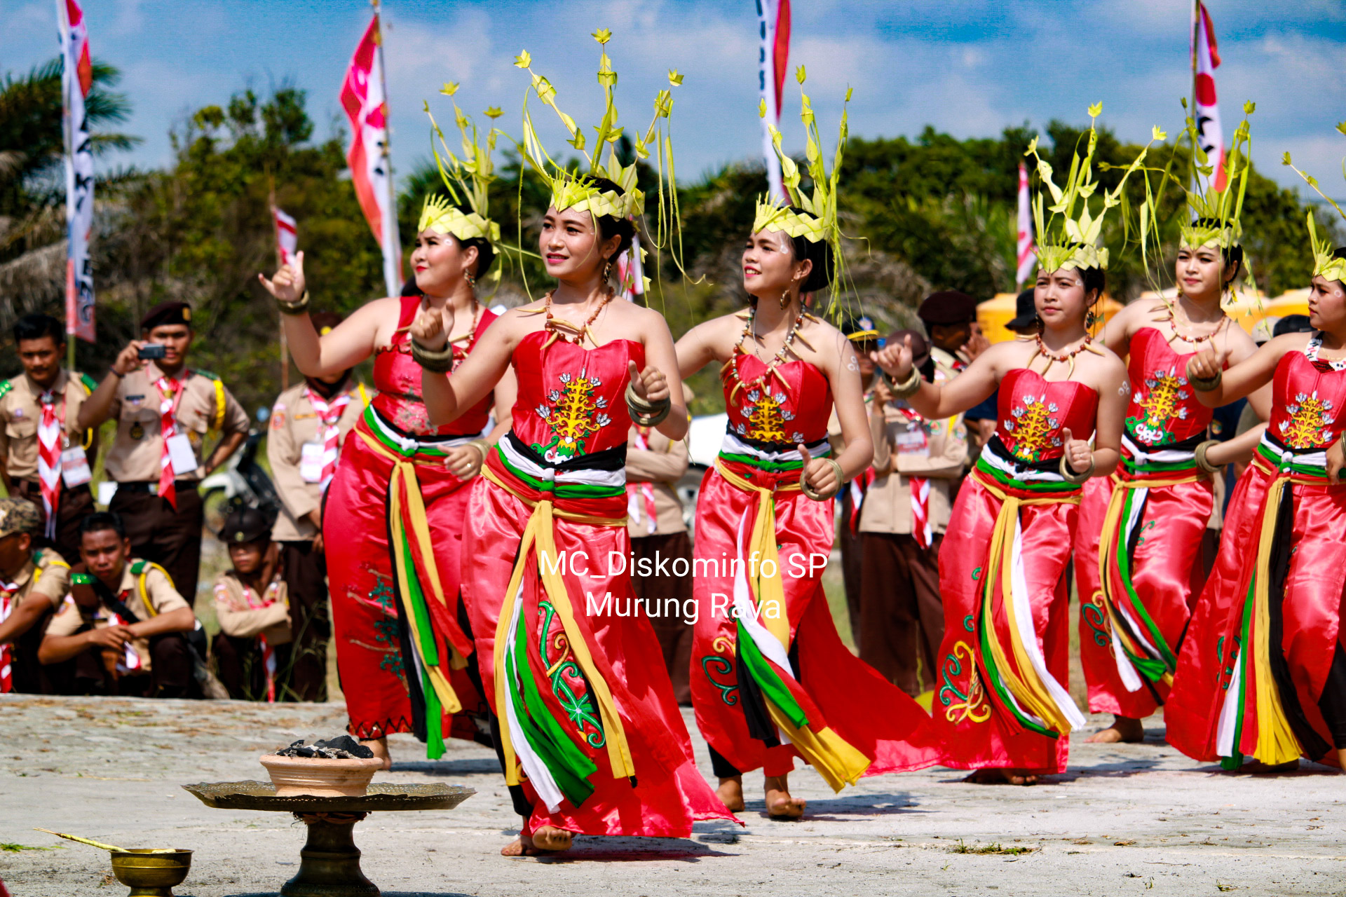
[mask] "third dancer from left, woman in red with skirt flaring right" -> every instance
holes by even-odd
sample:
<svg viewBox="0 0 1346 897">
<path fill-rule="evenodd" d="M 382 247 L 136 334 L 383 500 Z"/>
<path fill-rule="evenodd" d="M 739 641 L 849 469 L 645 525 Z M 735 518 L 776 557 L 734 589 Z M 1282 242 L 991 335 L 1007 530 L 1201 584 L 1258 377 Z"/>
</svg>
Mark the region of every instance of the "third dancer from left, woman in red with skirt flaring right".
<svg viewBox="0 0 1346 897">
<path fill-rule="evenodd" d="M 758 203 L 743 250 L 752 305 L 695 327 L 677 346 L 684 377 L 720 364 L 730 416 L 696 503 L 692 705 L 720 799 L 743 810 L 743 772 L 762 768 L 767 812 L 782 818 L 805 808 L 789 791 L 795 757 L 835 791 L 937 760 L 926 713 L 847 650 L 822 589 L 832 496 L 874 449 L 855 351 L 801 301 L 832 285 L 840 237 L 816 128 L 809 140 L 822 198 L 801 194 L 782 156 L 794 204 Z M 845 441 L 836 459 L 833 405 Z"/>
</svg>

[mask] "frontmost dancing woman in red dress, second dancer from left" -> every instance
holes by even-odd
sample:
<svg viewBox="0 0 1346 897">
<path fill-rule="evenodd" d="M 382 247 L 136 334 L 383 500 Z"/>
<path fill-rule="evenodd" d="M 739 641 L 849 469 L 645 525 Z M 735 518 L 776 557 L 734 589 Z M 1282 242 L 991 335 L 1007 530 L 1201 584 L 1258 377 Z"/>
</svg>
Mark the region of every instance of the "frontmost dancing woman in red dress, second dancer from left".
<svg viewBox="0 0 1346 897">
<path fill-rule="evenodd" d="M 611 73 L 606 54 L 602 69 Z M 551 100 L 549 82 L 534 85 Z M 525 136 L 540 145 L 526 117 Z M 612 301 L 610 273 L 643 194 L 635 164 L 596 161 L 606 144 L 600 134 L 586 175 L 528 156 L 552 188 L 538 254 L 553 290 L 506 312 L 448 377 L 448 309 L 412 329 L 435 422 L 509 370 L 518 381 L 513 428 L 472 490 L 463 542 L 463 600 L 524 816 L 506 855 L 564 850 L 572 832 L 685 838 L 697 819 L 731 818 L 696 769 L 626 565 L 626 433 L 635 420 L 680 440 L 688 417 L 664 317 Z"/>
</svg>

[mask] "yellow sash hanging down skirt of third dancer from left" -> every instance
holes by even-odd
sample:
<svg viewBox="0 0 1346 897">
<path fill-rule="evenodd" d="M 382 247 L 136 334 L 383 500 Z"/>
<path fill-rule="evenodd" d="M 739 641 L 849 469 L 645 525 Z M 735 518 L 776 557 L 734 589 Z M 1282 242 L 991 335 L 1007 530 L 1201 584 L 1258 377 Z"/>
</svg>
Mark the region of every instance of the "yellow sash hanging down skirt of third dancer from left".
<svg viewBox="0 0 1346 897">
<path fill-rule="evenodd" d="M 715 461 L 715 469 L 720 472 L 724 480 L 744 492 L 758 494 L 758 512 L 756 518 L 752 520 L 752 534 L 748 541 L 748 549 L 759 553 L 762 562 L 756 565 L 754 574 L 750 577 L 752 585 L 752 593 L 758 598 L 758 608 L 769 607 L 769 601 L 775 601 L 781 613 L 773 619 L 766 613 L 760 613 L 758 620 L 766 627 L 775 639 L 781 641 L 781 646 L 789 651 L 790 650 L 790 617 L 786 613 L 785 607 L 785 588 L 781 585 L 781 558 L 777 551 L 775 545 L 775 494 L 777 492 L 798 492 L 798 480 L 793 483 L 781 483 L 777 488 L 769 490 L 756 485 L 747 479 L 739 476 L 734 471 L 728 469 L 719 459 Z M 804 471 L 800 471 L 800 476 L 804 476 Z M 777 572 L 773 577 L 763 577 L 762 568 L 766 561 L 771 561 Z M 790 722 L 790 718 L 783 710 L 777 707 L 770 701 L 766 702 L 767 713 L 771 715 L 771 721 L 785 732 L 789 737 L 790 744 L 800 752 L 809 765 L 818 771 L 818 775 L 832 787 L 832 791 L 841 791 L 847 783 L 855 784 L 864 771 L 870 768 L 874 763 L 870 757 L 860 753 L 857 748 L 851 745 L 845 738 L 833 732 L 829 726 L 824 726 L 814 732 L 809 726 L 795 728 Z"/>
</svg>

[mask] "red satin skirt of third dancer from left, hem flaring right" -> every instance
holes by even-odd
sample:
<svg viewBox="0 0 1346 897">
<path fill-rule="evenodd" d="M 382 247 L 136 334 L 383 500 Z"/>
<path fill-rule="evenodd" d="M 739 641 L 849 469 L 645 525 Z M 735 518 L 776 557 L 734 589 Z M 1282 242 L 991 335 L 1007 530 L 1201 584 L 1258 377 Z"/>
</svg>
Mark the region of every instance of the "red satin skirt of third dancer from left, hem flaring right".
<svg viewBox="0 0 1346 897">
<path fill-rule="evenodd" d="M 797 484 L 797 469 L 773 475 L 746 464 L 727 464 L 736 476 L 775 488 Z M 769 776 L 790 772 L 795 757 L 805 754 L 778 737 L 754 737 L 750 726 L 754 699 L 743 686 L 740 672 L 746 646 L 732 615 L 735 573 L 739 562 L 751 577 L 752 549 L 748 534 L 758 514 L 759 492 L 731 484 L 711 469 L 701 480 L 696 503 L 695 572 L 692 584 L 697 619 L 692 641 L 692 703 L 701 736 L 742 772 L 762 768 Z M 863 754 L 860 775 L 875 776 L 934 765 L 938 749 L 930 717 L 905 691 L 856 658 L 837 636 L 822 570 L 836 535 L 832 502 L 814 502 L 797 488 L 777 491 L 774 498 L 774 541 L 778 577 L 783 588 L 789 623 L 789 668 L 771 664 L 773 672 L 789 690 L 789 698 L 808 718 L 814 732 L 830 729 Z M 758 558 L 760 559 L 760 558 Z M 812 565 L 812 566 L 810 566 Z M 767 695 L 770 699 L 770 695 Z M 762 726 L 756 726 L 758 736 Z M 777 726 L 766 726 L 775 736 Z M 820 769 L 821 772 L 821 769 Z M 826 775 L 825 775 L 826 777 Z M 849 780 L 845 775 L 837 776 Z M 839 788 L 833 783 L 833 788 Z"/>
</svg>

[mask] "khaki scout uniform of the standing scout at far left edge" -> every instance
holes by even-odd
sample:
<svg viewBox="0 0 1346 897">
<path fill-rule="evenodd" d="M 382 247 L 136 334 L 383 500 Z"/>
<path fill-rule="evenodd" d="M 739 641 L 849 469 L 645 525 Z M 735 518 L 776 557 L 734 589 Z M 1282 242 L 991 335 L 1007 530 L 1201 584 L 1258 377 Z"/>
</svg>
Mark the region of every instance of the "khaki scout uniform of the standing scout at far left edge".
<svg viewBox="0 0 1346 897">
<path fill-rule="evenodd" d="M 77 421 L 79 406 L 96 389 L 98 389 L 98 383 L 93 378 L 79 373 L 71 374 L 63 368 L 51 385 L 52 393 L 61 397 L 57 402 L 57 416 L 62 417 L 63 414 L 65 421 L 61 449 L 87 449 L 86 460 L 90 469 L 96 455 L 92 433 L 81 432 Z M 12 494 L 38 506 L 42 518 L 38 527 L 39 534 L 47 522 L 42 504 L 42 484 L 38 481 L 38 425 L 42 422 L 39 397 L 43 391 L 27 374 L 12 377 L 0 383 L 0 463 L 4 464 L 9 477 Z M 86 441 L 86 436 L 90 437 L 90 441 Z M 89 491 L 87 483 L 67 487 L 61 480 L 58 488 L 61 494 L 57 500 L 57 533 L 52 542 L 63 557 L 78 559 L 79 523 L 94 510 L 93 494 Z"/>
</svg>

